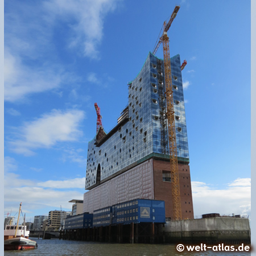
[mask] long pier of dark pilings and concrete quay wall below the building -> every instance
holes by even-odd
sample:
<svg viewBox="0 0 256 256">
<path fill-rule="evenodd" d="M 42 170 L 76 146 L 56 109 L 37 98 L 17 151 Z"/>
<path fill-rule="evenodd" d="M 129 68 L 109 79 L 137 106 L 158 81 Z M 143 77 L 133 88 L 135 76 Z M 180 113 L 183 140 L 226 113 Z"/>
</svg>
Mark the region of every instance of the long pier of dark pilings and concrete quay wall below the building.
<svg viewBox="0 0 256 256">
<path fill-rule="evenodd" d="M 170 221 L 166 224 L 131 223 L 84 229 L 65 229 L 63 240 L 114 243 L 250 244 L 247 218 L 212 217 Z"/>
</svg>

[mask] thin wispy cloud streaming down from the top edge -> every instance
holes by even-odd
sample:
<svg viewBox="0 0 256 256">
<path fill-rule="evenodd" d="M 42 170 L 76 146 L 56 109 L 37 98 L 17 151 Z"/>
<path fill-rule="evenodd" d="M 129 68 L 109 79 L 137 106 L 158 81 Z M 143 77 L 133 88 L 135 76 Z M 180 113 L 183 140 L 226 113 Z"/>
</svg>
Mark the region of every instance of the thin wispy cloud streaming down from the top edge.
<svg viewBox="0 0 256 256">
<path fill-rule="evenodd" d="M 84 56 L 98 59 L 104 18 L 117 8 L 118 2 L 120 0 L 53 0 L 45 2 L 45 6 L 57 18 L 72 21 L 69 46 L 82 48 Z"/>
</svg>

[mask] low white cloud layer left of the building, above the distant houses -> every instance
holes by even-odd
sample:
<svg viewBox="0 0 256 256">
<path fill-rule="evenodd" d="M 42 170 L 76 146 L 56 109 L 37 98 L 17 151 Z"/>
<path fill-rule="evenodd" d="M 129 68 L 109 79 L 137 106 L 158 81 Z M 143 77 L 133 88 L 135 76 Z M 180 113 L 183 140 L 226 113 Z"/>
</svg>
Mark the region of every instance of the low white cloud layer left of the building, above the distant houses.
<svg viewBox="0 0 256 256">
<path fill-rule="evenodd" d="M 24 202 L 23 212 L 30 214 L 28 219 L 34 217 L 34 210 L 38 209 L 53 210 L 59 209 L 62 205 L 63 209 L 70 210 L 71 204 L 68 201 L 82 200 L 84 186 L 85 177 L 36 182 L 20 179 L 19 175 L 8 173 L 5 174 L 5 211 L 16 212 L 20 202 Z"/>
</svg>

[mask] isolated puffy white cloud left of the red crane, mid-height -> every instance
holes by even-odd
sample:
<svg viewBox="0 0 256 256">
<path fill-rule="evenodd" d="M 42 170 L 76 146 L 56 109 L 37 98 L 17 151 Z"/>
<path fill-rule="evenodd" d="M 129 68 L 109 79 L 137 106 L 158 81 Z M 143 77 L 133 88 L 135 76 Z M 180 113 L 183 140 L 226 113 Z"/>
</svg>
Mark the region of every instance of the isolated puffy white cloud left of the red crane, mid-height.
<svg viewBox="0 0 256 256">
<path fill-rule="evenodd" d="M 49 148 L 57 142 L 77 141 L 82 135 L 79 123 L 84 117 L 81 110 L 52 110 L 19 127 L 18 138 L 10 141 L 9 145 L 18 154 L 32 155 L 32 150 L 36 148 Z"/>
</svg>

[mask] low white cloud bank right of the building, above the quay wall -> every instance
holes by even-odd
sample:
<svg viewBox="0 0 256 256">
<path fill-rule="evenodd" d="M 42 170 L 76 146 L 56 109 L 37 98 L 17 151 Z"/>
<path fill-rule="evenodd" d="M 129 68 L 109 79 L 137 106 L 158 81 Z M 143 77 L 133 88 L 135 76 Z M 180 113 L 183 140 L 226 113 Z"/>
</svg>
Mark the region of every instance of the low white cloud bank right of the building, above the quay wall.
<svg viewBox="0 0 256 256">
<path fill-rule="evenodd" d="M 215 212 L 220 214 L 250 215 L 250 180 L 250 178 L 236 179 L 224 189 L 216 189 L 206 183 L 192 181 L 195 216 Z"/>
</svg>

